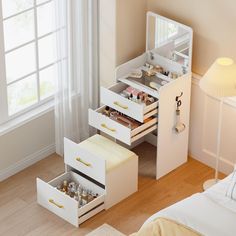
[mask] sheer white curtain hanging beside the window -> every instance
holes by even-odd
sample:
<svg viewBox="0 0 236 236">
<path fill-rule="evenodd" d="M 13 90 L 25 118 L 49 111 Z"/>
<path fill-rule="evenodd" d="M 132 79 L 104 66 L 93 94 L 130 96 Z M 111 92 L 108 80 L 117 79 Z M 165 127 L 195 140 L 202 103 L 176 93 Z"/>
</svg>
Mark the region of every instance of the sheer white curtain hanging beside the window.
<svg viewBox="0 0 236 236">
<path fill-rule="evenodd" d="M 98 106 L 98 0 L 55 0 L 58 80 L 55 94 L 56 152 L 63 138 L 87 138 L 88 108 Z"/>
</svg>

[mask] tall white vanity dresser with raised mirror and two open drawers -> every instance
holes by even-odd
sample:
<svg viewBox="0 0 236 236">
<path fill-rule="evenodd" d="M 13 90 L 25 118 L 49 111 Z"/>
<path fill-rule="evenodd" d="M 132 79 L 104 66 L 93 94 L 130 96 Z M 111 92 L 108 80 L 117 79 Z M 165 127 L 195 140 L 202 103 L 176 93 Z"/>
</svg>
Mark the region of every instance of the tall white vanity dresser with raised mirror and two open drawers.
<svg viewBox="0 0 236 236">
<path fill-rule="evenodd" d="M 156 179 L 187 161 L 192 37 L 190 27 L 148 12 L 146 52 L 117 68 L 115 85 L 101 88 L 102 104 L 139 124 L 132 128 L 132 121 L 117 122 L 120 117 L 104 115 L 105 106 L 89 110 L 89 124 L 114 139 L 128 145 L 147 141 L 157 147 Z M 132 78 L 132 72 L 138 77 L 140 71 L 141 78 Z M 129 86 L 153 102 L 143 105 L 124 96 Z"/>
</svg>

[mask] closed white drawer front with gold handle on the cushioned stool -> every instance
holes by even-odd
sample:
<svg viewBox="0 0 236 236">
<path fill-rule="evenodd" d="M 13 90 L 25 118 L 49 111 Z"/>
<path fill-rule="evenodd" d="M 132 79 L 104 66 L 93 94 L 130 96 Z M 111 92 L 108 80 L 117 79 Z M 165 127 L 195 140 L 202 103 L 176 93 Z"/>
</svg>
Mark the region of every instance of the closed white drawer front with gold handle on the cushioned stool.
<svg viewBox="0 0 236 236">
<path fill-rule="evenodd" d="M 102 158 L 67 138 L 64 138 L 64 158 L 67 165 L 105 185 L 106 162 Z"/>
</svg>

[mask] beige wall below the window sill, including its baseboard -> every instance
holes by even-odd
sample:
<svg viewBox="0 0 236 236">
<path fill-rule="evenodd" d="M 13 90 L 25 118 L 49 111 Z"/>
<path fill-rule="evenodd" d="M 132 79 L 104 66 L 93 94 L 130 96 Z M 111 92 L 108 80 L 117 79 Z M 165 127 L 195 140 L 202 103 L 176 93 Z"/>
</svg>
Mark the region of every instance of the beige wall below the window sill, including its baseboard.
<svg viewBox="0 0 236 236">
<path fill-rule="evenodd" d="M 27 163 L 32 164 L 34 159 L 53 152 L 54 144 L 53 111 L 0 136 L 0 181 Z"/>
</svg>

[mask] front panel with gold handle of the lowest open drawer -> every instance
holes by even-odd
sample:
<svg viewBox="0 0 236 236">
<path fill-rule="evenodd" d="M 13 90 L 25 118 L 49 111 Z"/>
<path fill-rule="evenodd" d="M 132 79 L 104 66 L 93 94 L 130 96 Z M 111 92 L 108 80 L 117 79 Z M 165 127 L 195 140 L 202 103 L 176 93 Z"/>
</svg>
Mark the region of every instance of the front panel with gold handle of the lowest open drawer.
<svg viewBox="0 0 236 236">
<path fill-rule="evenodd" d="M 37 199 L 40 205 L 78 227 L 78 203 L 39 178 Z"/>
</svg>

